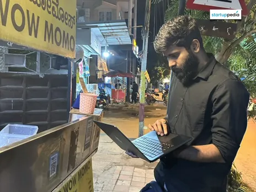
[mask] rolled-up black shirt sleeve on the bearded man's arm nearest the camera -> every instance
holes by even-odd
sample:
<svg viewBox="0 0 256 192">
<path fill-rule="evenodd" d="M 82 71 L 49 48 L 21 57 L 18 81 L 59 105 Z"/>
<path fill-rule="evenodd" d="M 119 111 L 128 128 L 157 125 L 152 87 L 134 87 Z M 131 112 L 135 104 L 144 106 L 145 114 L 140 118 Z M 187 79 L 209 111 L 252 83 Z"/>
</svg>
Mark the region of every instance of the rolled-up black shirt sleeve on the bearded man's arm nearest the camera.
<svg viewBox="0 0 256 192">
<path fill-rule="evenodd" d="M 222 82 L 212 95 L 212 143 L 232 163 L 247 127 L 249 93 L 238 79 Z"/>
</svg>

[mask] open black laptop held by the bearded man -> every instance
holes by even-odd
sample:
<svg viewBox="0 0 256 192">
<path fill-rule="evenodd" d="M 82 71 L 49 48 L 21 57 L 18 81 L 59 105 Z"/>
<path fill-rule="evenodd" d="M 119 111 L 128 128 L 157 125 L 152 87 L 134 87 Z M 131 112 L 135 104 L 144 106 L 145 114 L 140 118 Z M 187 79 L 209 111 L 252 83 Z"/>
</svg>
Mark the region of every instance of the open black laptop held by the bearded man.
<svg viewBox="0 0 256 192">
<path fill-rule="evenodd" d="M 166 154 L 176 150 L 185 143 L 192 140 L 191 137 L 169 134 L 158 136 L 156 131 L 151 131 L 146 135 L 130 141 L 118 127 L 105 124 L 104 122 L 94 121 L 122 150 L 132 152 L 137 157 L 147 162 L 154 162 Z"/>
</svg>

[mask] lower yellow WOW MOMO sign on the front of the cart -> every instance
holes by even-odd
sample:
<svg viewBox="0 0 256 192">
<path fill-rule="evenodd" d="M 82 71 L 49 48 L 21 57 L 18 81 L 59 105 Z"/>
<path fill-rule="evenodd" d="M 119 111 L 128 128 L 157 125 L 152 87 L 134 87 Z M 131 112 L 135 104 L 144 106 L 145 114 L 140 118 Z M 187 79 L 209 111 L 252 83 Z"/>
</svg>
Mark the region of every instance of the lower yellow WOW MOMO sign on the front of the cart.
<svg viewBox="0 0 256 192">
<path fill-rule="evenodd" d="M 56 192 L 93 192 L 92 159 Z"/>
</svg>

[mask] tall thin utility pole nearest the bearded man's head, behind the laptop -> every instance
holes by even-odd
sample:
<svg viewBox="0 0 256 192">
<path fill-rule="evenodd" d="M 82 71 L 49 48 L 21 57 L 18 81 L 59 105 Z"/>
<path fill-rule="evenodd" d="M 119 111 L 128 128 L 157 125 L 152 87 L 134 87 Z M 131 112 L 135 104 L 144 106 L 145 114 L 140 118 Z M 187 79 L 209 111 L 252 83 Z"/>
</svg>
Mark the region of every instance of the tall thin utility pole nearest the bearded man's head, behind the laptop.
<svg viewBox="0 0 256 192">
<path fill-rule="evenodd" d="M 141 61 L 141 82 L 140 82 L 140 111 L 138 115 L 139 130 L 138 136 L 144 135 L 144 117 L 145 117 L 145 90 L 146 90 L 146 77 L 145 72 L 147 70 L 147 51 L 148 51 L 148 36 L 150 33 L 150 12 L 151 12 L 151 0 L 146 1 L 146 13 L 145 13 L 145 26 L 142 29 L 143 36 L 143 56 Z"/>
</svg>

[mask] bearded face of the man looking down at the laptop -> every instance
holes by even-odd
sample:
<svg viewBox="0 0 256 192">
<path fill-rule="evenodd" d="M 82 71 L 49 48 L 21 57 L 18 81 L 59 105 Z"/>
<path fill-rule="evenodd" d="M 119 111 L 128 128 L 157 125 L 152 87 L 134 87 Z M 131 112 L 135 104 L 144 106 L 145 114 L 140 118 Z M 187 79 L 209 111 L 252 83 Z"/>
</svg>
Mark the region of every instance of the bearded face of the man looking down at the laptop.
<svg viewBox="0 0 256 192">
<path fill-rule="evenodd" d="M 184 85 L 188 85 L 198 72 L 199 61 L 193 51 L 173 45 L 163 54 L 168 57 L 169 67 L 175 76 Z"/>
</svg>

